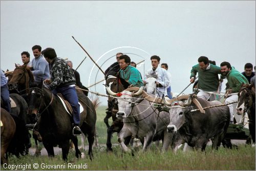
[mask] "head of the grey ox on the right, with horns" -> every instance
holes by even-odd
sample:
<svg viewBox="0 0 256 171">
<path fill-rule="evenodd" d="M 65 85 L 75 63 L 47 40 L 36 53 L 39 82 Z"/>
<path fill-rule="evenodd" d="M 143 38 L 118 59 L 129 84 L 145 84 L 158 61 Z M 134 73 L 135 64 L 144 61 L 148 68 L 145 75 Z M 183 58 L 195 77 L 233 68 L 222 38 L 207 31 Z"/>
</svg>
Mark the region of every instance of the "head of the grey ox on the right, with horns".
<svg viewBox="0 0 256 171">
<path fill-rule="evenodd" d="M 188 100 L 185 102 L 174 101 L 172 104 L 170 104 L 164 100 L 164 103 L 171 106 L 169 109 L 170 123 L 167 126 L 167 132 L 176 134 L 177 131 L 185 123 L 185 114 L 187 114 L 188 112 L 188 108 L 186 106 L 189 106 L 191 104 L 191 96 L 189 96 Z"/>
</svg>

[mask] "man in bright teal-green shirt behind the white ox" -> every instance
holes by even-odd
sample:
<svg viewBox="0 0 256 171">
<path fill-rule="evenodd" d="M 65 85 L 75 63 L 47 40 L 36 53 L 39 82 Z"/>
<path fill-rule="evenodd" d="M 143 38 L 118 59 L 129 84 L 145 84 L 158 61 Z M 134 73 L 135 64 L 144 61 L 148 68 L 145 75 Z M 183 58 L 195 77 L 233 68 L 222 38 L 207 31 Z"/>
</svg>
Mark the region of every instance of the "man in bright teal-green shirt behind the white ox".
<svg viewBox="0 0 256 171">
<path fill-rule="evenodd" d="M 143 86 L 143 81 L 140 76 L 140 72 L 137 68 L 130 65 L 131 59 L 127 55 L 122 55 L 119 57 L 119 78 L 121 80 L 124 88 L 127 88 L 131 85 L 136 87 Z"/>
</svg>

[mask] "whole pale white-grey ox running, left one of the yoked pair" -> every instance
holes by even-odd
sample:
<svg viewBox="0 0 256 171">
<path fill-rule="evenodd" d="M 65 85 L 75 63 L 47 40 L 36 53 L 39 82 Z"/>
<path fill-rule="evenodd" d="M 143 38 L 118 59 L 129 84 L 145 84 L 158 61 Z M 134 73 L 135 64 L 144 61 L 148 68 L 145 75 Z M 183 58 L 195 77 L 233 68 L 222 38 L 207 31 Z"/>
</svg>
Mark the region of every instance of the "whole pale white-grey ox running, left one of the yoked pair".
<svg viewBox="0 0 256 171">
<path fill-rule="evenodd" d="M 143 151 L 150 147 L 153 137 L 159 136 L 164 131 L 162 150 L 167 150 L 173 134 L 167 133 L 169 115 L 167 112 L 159 112 L 154 106 L 155 97 L 149 96 L 143 91 L 143 87 L 128 88 L 121 93 L 114 93 L 106 86 L 109 94 L 119 95 L 117 117 L 123 118 L 123 128 L 118 134 L 118 142 L 124 152 L 129 148 L 124 144 L 124 138 L 133 135 L 135 138 L 144 138 Z M 138 90 L 139 89 L 139 90 Z M 131 92 L 138 90 L 137 92 Z M 148 101 L 150 99 L 150 102 Z"/>
</svg>

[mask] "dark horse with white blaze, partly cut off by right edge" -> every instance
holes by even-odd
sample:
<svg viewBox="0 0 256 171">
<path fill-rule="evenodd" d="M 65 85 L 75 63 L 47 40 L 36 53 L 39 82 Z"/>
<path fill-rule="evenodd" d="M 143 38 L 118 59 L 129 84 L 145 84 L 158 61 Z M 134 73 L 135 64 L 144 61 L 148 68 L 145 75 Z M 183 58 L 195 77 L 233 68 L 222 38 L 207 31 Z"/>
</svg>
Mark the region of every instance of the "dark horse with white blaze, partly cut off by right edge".
<svg viewBox="0 0 256 171">
<path fill-rule="evenodd" d="M 238 92 L 237 113 L 249 118 L 249 131 L 253 144 L 255 144 L 255 90 L 253 85 L 244 85 Z"/>
</svg>

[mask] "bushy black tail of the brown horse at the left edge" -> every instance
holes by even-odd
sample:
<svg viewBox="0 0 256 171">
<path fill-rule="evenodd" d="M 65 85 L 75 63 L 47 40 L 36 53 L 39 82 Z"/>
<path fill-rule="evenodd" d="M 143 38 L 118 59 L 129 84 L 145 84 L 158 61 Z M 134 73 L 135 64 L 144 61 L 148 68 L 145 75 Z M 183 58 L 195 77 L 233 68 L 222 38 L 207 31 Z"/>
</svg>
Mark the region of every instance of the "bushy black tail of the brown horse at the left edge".
<svg viewBox="0 0 256 171">
<path fill-rule="evenodd" d="M 19 158 L 19 155 L 26 153 L 26 147 L 30 143 L 29 131 L 26 127 L 25 121 L 18 116 L 12 115 L 16 124 L 16 131 L 8 146 L 8 152 Z"/>
</svg>

